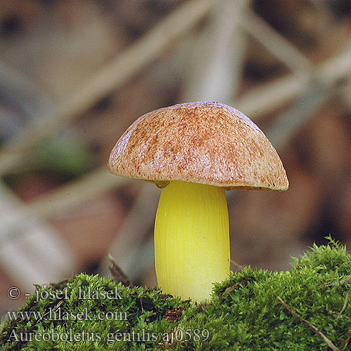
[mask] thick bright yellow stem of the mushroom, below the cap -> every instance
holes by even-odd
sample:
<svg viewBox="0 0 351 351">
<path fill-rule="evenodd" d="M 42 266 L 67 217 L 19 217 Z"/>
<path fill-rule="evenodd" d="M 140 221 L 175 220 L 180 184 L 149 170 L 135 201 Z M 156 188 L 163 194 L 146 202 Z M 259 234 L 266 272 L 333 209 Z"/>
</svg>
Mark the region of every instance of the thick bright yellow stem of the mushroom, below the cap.
<svg viewBox="0 0 351 351">
<path fill-rule="evenodd" d="M 164 293 L 208 300 L 230 273 L 223 187 L 173 181 L 161 192 L 154 228 L 157 282 Z"/>
</svg>

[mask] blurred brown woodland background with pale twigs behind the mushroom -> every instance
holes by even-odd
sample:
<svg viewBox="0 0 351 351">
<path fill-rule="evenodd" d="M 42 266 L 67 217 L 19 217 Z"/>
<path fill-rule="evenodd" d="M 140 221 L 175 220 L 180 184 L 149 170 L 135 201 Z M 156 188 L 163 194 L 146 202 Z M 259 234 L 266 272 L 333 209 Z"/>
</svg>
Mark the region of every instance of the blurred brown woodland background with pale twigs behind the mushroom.
<svg viewBox="0 0 351 351">
<path fill-rule="evenodd" d="M 108 253 L 156 284 L 160 190 L 107 159 L 142 114 L 195 100 L 255 121 L 290 180 L 227 192 L 232 270 L 289 269 L 329 234 L 351 247 L 350 1 L 1 0 L 0 314 L 109 274 Z"/>
</svg>

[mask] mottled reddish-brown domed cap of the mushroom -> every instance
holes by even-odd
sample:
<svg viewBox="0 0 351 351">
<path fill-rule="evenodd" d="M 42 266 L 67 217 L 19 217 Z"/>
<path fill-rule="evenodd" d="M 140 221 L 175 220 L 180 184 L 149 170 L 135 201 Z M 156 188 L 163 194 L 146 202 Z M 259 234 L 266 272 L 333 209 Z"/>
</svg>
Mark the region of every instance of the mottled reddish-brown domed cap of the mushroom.
<svg viewBox="0 0 351 351">
<path fill-rule="evenodd" d="M 117 176 L 218 187 L 286 190 L 276 150 L 256 124 L 218 102 L 187 102 L 137 119 L 114 146 L 108 168 Z"/>
</svg>

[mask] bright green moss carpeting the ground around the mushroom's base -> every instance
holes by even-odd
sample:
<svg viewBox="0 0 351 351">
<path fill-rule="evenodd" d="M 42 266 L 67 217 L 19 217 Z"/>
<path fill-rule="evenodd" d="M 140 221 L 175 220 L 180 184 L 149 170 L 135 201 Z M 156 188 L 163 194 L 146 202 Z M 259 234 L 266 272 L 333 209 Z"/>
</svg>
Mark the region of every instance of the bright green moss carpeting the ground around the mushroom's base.
<svg viewBox="0 0 351 351">
<path fill-rule="evenodd" d="M 216 284 L 208 304 L 79 274 L 60 286 L 37 286 L 19 310 L 31 313 L 12 316 L 0 345 L 1 350 L 331 350 L 279 296 L 338 350 L 351 350 L 350 290 L 351 256 L 334 241 L 313 246 L 287 272 L 246 267 L 231 274 Z"/>
</svg>

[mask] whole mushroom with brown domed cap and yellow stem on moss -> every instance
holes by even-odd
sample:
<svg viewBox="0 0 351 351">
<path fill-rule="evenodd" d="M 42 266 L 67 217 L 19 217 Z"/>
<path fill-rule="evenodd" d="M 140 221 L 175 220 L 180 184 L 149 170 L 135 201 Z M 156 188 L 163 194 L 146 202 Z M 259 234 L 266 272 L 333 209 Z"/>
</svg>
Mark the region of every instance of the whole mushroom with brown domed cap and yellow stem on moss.
<svg viewBox="0 0 351 351">
<path fill-rule="evenodd" d="M 282 161 L 263 132 L 233 107 L 187 102 L 137 119 L 108 168 L 162 188 L 154 226 L 157 283 L 183 299 L 210 298 L 230 274 L 225 190 L 286 190 Z"/>
</svg>

